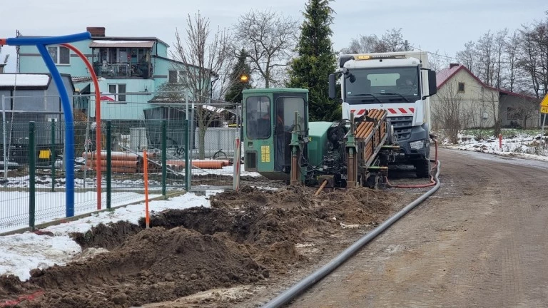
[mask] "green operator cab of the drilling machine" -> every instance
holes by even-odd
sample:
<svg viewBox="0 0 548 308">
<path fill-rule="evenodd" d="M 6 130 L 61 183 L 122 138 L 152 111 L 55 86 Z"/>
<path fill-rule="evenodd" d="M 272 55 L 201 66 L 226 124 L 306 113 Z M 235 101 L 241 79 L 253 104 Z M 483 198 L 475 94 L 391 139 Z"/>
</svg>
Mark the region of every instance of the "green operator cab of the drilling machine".
<svg viewBox="0 0 548 308">
<path fill-rule="evenodd" d="M 271 180 L 290 180 L 291 134 L 295 128 L 300 135 L 308 133 L 308 90 L 265 88 L 242 93 L 245 170 Z"/>
</svg>

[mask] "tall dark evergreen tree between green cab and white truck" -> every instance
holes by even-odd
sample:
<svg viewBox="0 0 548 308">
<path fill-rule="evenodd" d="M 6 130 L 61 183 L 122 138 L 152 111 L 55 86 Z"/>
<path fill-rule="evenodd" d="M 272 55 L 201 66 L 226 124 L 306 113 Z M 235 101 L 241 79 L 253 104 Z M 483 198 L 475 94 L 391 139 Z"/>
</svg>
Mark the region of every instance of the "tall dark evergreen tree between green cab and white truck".
<svg viewBox="0 0 548 308">
<path fill-rule="evenodd" d="M 309 0 L 305 21 L 300 26 L 298 57 L 290 63 L 287 83 L 291 88 L 308 88 L 310 120 L 340 120 L 338 103 L 329 98 L 328 76 L 335 71 L 335 53 L 331 42 L 332 0 Z"/>
</svg>

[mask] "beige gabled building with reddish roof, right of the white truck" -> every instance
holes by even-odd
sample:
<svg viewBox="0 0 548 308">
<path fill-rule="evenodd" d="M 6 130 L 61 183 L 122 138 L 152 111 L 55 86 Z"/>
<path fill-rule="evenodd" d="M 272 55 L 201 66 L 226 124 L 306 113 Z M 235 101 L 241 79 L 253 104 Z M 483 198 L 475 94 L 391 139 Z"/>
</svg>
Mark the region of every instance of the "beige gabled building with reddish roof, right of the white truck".
<svg viewBox="0 0 548 308">
<path fill-rule="evenodd" d="M 436 79 L 437 94 L 432 96 L 430 108 L 434 129 L 443 128 L 444 108 L 458 110 L 462 128 L 492 127 L 495 113 L 502 127 L 540 125 L 537 98 L 487 86 L 461 64 L 450 64 L 437 73 Z"/>
</svg>

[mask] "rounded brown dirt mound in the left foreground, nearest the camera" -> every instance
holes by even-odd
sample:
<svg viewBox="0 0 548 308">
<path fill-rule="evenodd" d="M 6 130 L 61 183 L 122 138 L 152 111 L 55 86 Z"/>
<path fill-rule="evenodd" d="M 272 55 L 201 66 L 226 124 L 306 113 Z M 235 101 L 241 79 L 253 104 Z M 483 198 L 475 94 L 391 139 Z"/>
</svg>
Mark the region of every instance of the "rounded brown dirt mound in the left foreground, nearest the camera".
<svg viewBox="0 0 548 308">
<path fill-rule="evenodd" d="M 243 245 L 223 233 L 154 227 L 110 253 L 36 274 L 26 284 L 46 292 L 20 306 L 128 307 L 257 281 L 263 271 Z"/>
</svg>

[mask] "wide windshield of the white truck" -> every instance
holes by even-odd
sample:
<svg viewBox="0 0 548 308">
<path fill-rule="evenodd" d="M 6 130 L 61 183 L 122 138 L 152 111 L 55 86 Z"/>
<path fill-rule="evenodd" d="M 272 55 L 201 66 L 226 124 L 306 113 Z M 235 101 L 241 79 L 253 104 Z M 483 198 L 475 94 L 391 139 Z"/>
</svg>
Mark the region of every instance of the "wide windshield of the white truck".
<svg viewBox="0 0 548 308">
<path fill-rule="evenodd" d="M 409 103 L 420 99 L 419 70 L 415 67 L 355 68 L 345 78 L 349 104 Z"/>
</svg>

